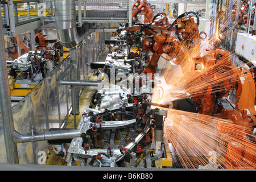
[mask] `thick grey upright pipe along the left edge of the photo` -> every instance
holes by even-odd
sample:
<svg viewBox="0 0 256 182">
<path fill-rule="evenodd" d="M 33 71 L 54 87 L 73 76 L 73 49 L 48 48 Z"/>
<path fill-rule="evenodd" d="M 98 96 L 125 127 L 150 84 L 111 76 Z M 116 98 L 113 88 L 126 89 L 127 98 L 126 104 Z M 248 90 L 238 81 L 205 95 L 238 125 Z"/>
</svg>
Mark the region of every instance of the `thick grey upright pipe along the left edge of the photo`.
<svg viewBox="0 0 256 182">
<path fill-rule="evenodd" d="M 2 117 L 3 137 L 5 139 L 7 163 L 19 163 L 16 144 L 13 142 L 14 131 L 11 95 L 7 75 L 5 57 L 5 40 L 3 38 L 2 16 L 0 16 L 0 108 Z"/>
</svg>

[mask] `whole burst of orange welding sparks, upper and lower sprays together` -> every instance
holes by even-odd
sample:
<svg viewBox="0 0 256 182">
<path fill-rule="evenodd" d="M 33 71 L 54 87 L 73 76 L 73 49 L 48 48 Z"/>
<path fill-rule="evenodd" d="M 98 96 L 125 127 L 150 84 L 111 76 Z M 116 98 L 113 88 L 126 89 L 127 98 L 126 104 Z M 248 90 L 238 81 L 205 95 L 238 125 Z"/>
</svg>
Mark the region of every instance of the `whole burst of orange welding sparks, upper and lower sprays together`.
<svg viewBox="0 0 256 182">
<path fill-rule="evenodd" d="M 254 138 L 254 134 L 250 135 L 250 131 L 246 131 L 249 127 L 245 126 L 249 122 L 232 121 L 228 117 L 221 119 L 220 115 L 213 117 L 216 98 L 229 98 L 232 94 L 239 98 L 236 92 L 239 92 L 237 86 L 244 83 L 242 73 L 250 73 L 246 67 L 238 68 L 232 64 L 230 57 L 234 56 L 234 51 L 225 57 L 224 49 L 216 47 L 230 41 L 226 39 L 229 32 L 225 31 L 230 24 L 227 16 L 217 16 L 221 17 L 222 26 L 205 46 L 209 51 L 202 51 L 197 44 L 184 52 L 185 59 L 179 64 L 175 59 L 179 53 L 170 55 L 166 68 L 159 71 L 164 89 L 161 94 L 159 90 L 154 92 L 152 102 L 170 104 L 171 101 L 190 98 L 199 105 L 199 113 L 168 109 L 164 142 L 172 146 L 175 167 L 255 169 L 256 145 L 249 139 L 250 136 Z M 255 83 L 252 85 L 255 87 Z"/>
</svg>

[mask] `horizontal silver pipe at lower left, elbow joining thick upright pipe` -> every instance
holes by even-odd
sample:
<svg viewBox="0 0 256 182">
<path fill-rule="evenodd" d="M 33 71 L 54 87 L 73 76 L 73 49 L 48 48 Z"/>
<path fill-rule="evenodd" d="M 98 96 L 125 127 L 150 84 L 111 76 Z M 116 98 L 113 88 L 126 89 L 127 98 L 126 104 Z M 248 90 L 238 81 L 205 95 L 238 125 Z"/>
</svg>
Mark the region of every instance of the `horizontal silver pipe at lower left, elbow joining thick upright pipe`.
<svg viewBox="0 0 256 182">
<path fill-rule="evenodd" d="M 20 134 L 14 131 L 13 140 L 15 143 L 38 142 L 43 140 L 71 139 L 81 137 L 81 131 L 77 129 L 63 129 L 54 131 L 44 131 L 38 133 Z"/>
</svg>

